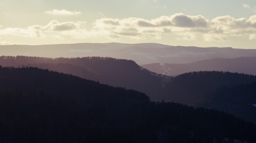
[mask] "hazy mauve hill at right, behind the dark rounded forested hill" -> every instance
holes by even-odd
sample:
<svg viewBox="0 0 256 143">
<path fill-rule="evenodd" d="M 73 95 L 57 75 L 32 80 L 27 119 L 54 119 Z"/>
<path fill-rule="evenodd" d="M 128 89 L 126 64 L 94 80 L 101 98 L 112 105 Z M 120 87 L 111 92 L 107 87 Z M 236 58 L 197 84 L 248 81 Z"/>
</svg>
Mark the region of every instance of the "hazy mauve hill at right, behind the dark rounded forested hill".
<svg viewBox="0 0 256 143">
<path fill-rule="evenodd" d="M 213 70 L 256 75 L 255 63 L 256 57 L 251 56 L 239 58 L 213 58 L 186 64 L 165 63 L 164 65 L 160 65 L 160 63 L 152 63 L 141 66 L 152 72 L 166 74 L 168 76 L 177 76 L 186 72 Z"/>
</svg>

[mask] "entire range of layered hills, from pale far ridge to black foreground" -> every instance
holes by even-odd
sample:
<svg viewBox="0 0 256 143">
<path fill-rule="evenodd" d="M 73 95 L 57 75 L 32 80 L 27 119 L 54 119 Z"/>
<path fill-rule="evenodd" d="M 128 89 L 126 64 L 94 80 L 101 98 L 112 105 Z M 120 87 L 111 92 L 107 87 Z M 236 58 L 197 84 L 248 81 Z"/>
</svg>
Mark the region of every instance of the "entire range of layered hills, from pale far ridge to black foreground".
<svg viewBox="0 0 256 143">
<path fill-rule="evenodd" d="M 80 43 L 0 51 L 0 142 L 255 142 L 256 50 Z"/>
</svg>

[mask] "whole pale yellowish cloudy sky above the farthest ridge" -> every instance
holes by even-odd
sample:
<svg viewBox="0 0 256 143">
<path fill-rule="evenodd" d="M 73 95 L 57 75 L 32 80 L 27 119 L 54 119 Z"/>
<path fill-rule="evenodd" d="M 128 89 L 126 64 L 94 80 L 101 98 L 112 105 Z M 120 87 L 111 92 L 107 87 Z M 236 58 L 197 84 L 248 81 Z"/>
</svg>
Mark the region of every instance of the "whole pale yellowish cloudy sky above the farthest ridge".
<svg viewBox="0 0 256 143">
<path fill-rule="evenodd" d="M 256 0 L 0 0 L 0 45 L 256 49 Z"/>
</svg>

